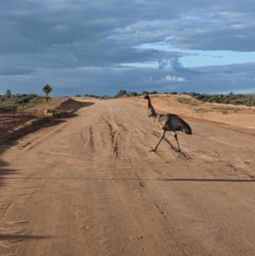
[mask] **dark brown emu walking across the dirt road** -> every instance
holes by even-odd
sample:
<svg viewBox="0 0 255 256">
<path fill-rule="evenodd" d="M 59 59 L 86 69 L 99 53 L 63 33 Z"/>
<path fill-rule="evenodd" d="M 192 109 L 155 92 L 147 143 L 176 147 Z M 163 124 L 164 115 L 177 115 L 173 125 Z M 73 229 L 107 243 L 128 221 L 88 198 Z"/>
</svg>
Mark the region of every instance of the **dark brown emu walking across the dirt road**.
<svg viewBox="0 0 255 256">
<path fill-rule="evenodd" d="M 156 151 L 158 145 L 160 145 L 161 140 L 165 137 L 167 131 L 173 132 L 173 136 L 176 139 L 178 152 L 180 152 L 180 148 L 178 145 L 178 137 L 176 132 L 181 131 L 184 134 L 192 134 L 192 130 L 190 125 L 185 122 L 182 118 L 178 117 L 174 114 L 157 114 L 154 107 L 151 105 L 150 96 L 145 95 L 144 100 L 148 100 L 148 116 L 152 119 L 152 122 L 156 123 L 161 129 L 161 138 L 157 143 L 155 149 L 152 151 Z"/>
</svg>

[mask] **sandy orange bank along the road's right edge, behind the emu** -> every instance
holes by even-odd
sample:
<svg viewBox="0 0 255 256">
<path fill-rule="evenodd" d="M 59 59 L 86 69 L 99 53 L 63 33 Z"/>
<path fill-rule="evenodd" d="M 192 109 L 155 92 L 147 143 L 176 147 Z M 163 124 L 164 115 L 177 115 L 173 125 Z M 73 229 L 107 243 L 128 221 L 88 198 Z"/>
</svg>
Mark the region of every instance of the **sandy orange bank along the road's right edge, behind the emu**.
<svg viewBox="0 0 255 256">
<path fill-rule="evenodd" d="M 215 122 L 235 125 L 242 128 L 255 128 L 255 107 L 246 105 L 226 105 L 207 103 L 195 100 L 185 94 L 155 94 L 150 95 L 152 105 L 157 112 L 175 113 L 180 117 L 195 119 L 200 122 Z M 143 96 L 125 98 L 147 105 Z"/>
</svg>

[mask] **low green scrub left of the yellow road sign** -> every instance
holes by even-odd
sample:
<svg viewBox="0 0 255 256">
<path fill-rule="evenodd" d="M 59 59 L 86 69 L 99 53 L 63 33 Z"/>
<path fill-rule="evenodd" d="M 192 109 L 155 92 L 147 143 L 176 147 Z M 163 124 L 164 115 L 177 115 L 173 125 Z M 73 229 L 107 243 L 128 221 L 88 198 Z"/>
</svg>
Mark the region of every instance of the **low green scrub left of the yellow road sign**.
<svg viewBox="0 0 255 256">
<path fill-rule="evenodd" d="M 41 101 L 42 97 L 37 94 L 12 94 L 7 90 L 4 95 L 0 94 L 0 111 L 23 111 Z"/>
</svg>

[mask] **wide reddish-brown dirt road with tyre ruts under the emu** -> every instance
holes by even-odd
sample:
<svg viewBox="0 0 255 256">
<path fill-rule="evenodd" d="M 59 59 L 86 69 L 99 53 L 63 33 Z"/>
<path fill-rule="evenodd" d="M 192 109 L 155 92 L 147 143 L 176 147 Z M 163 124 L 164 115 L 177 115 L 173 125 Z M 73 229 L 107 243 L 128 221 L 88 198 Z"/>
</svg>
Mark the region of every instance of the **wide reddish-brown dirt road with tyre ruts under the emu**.
<svg viewBox="0 0 255 256">
<path fill-rule="evenodd" d="M 124 100 L 0 145 L 0 255 L 255 255 L 254 134 L 185 120 L 182 153 Z"/>
</svg>

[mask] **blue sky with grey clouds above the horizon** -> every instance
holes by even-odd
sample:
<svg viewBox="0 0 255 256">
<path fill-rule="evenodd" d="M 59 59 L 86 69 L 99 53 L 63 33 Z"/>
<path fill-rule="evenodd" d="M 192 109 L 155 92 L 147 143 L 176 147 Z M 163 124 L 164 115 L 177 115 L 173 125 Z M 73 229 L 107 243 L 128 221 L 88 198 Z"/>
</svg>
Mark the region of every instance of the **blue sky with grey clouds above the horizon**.
<svg viewBox="0 0 255 256">
<path fill-rule="evenodd" d="M 1 0 L 0 94 L 255 93 L 253 0 Z"/>
</svg>

